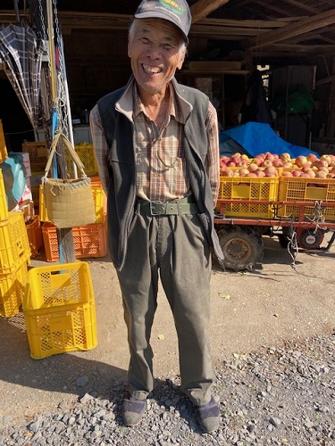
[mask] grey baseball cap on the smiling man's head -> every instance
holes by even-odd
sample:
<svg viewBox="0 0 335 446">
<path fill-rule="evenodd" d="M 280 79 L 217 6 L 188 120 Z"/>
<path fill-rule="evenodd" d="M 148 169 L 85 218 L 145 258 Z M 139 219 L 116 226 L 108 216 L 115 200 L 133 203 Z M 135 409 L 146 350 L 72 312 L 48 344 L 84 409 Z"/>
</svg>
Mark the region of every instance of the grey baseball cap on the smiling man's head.
<svg viewBox="0 0 335 446">
<path fill-rule="evenodd" d="M 191 26 L 191 12 L 185 0 L 143 0 L 135 12 L 137 19 L 157 17 L 176 25 L 188 44 L 188 31 Z"/>
</svg>

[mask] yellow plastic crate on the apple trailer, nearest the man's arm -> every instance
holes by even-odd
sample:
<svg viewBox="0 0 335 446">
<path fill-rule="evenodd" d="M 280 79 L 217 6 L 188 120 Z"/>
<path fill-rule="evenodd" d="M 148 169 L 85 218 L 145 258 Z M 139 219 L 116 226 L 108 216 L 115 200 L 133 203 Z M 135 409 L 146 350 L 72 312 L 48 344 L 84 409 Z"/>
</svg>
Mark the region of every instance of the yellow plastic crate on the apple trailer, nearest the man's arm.
<svg viewBox="0 0 335 446">
<path fill-rule="evenodd" d="M 246 200 L 246 202 L 225 204 L 225 216 L 271 219 L 273 217 L 271 205 L 252 201 L 273 202 L 277 197 L 278 177 L 221 177 L 217 208 L 220 207 L 220 200 Z"/>
</svg>

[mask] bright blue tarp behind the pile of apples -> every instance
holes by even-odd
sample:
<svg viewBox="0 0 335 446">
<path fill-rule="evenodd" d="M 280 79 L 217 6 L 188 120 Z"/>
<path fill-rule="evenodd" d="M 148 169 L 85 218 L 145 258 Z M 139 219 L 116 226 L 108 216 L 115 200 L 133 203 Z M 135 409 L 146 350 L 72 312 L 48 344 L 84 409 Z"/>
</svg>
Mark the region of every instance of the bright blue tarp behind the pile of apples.
<svg viewBox="0 0 335 446">
<path fill-rule="evenodd" d="M 223 152 L 223 147 L 229 141 L 236 141 L 247 153 L 253 157 L 259 153 L 271 152 L 281 155 L 281 153 L 289 153 L 291 158 L 297 158 L 299 155 L 307 155 L 313 152 L 306 147 L 300 145 L 293 145 L 284 141 L 275 131 L 272 130 L 269 124 L 261 122 L 247 122 L 241 126 L 223 130 L 220 133 L 220 153 Z M 238 151 L 236 151 L 238 152 Z"/>
</svg>

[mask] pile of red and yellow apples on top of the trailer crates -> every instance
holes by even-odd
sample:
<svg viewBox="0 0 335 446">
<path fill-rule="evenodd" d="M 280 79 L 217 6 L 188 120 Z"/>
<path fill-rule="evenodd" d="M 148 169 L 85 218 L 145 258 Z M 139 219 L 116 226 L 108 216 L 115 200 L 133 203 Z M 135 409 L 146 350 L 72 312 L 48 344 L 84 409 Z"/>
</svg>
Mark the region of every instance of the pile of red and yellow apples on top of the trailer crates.
<svg viewBox="0 0 335 446">
<path fill-rule="evenodd" d="M 282 168 L 282 169 L 281 169 Z M 281 155 L 266 152 L 255 158 L 234 153 L 220 157 L 222 177 L 305 177 L 335 178 L 335 155 L 323 154 L 318 158 L 314 153 L 291 158 L 289 153 Z"/>
</svg>

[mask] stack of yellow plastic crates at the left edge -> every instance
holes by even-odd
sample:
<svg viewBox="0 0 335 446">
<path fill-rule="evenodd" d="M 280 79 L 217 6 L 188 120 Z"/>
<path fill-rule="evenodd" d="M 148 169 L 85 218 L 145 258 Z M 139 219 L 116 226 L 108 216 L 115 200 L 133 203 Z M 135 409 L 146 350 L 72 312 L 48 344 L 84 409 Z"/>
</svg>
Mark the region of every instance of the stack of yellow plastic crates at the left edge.
<svg viewBox="0 0 335 446">
<path fill-rule="evenodd" d="M 30 261 L 29 239 L 21 211 L 9 212 L 0 170 L 0 316 L 20 311 Z"/>
</svg>

